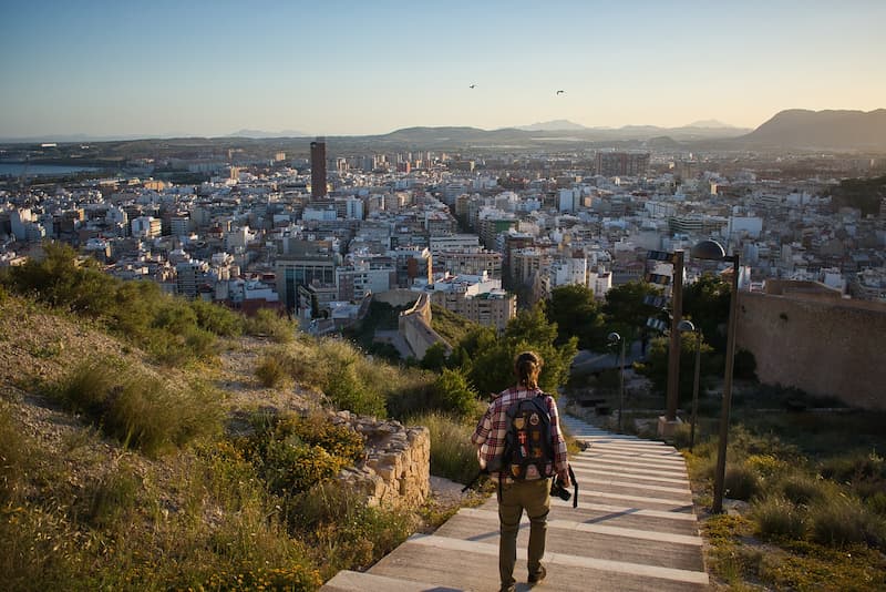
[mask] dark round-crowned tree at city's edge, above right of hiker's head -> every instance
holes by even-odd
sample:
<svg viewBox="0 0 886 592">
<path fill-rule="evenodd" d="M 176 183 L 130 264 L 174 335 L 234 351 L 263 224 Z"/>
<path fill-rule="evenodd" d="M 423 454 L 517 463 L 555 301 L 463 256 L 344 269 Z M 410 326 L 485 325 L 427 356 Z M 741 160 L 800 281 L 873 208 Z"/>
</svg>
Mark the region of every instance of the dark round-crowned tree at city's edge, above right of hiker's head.
<svg viewBox="0 0 886 592">
<path fill-rule="evenodd" d="M 557 345 L 578 338 L 578 347 L 599 346 L 605 331 L 604 318 L 594 292 L 585 286 L 559 286 L 550 293 L 545 307 L 547 319 L 557 325 Z"/>
</svg>

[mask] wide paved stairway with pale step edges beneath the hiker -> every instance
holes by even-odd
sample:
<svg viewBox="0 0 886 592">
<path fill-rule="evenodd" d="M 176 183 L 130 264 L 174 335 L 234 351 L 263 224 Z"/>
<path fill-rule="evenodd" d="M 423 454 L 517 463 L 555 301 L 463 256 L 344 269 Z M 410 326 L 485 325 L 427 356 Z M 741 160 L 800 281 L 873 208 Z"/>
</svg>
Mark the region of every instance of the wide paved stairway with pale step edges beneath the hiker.
<svg viewBox="0 0 886 592">
<path fill-rule="evenodd" d="M 683 458 L 662 442 L 617 436 L 568 416 L 560 421 L 591 446 L 570 461 L 578 508 L 552 500 L 547 579 L 537 590 L 707 590 L 702 541 Z M 528 520 L 517 551 L 517 591 L 526 583 Z M 433 534 L 415 534 L 367 573 L 342 571 L 321 589 L 450 592 L 498 590 L 498 514 L 493 496 L 462 508 Z"/>
</svg>

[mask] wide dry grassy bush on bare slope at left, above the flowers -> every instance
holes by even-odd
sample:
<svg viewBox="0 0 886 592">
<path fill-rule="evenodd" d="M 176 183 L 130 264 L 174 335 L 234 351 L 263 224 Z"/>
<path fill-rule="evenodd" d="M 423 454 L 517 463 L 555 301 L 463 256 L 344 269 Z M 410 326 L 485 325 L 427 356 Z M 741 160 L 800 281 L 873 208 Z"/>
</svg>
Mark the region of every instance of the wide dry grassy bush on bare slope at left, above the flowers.
<svg viewBox="0 0 886 592">
<path fill-rule="evenodd" d="M 126 447 L 153 455 L 220 429 L 222 410 L 204 385 L 173 389 L 121 360 L 92 360 L 51 389 Z"/>
</svg>

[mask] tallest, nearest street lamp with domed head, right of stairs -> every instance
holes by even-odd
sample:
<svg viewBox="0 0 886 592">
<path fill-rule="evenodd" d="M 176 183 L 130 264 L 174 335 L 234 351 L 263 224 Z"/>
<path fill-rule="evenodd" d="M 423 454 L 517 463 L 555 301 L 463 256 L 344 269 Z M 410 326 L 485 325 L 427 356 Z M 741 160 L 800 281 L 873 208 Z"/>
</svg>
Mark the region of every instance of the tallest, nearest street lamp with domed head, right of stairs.
<svg viewBox="0 0 886 592">
<path fill-rule="evenodd" d="M 692 258 L 732 263 L 732 292 L 729 297 L 729 325 L 727 327 L 727 369 L 723 377 L 723 408 L 720 416 L 720 443 L 717 449 L 717 471 L 713 476 L 712 513 L 723 511 L 723 487 L 727 473 L 727 440 L 729 439 L 729 410 L 732 406 L 732 368 L 735 358 L 735 319 L 739 304 L 739 254 L 727 255 L 717 241 L 702 241 L 692 247 Z"/>
</svg>

